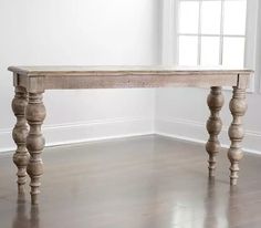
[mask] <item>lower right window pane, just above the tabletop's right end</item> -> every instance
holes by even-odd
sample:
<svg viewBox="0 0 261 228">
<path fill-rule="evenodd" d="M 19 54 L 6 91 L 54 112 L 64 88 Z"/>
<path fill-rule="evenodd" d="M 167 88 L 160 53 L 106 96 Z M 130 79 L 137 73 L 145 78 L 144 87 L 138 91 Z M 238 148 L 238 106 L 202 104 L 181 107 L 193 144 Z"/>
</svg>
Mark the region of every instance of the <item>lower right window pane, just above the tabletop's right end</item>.
<svg viewBox="0 0 261 228">
<path fill-rule="evenodd" d="M 223 65 L 243 66 L 244 38 L 223 39 Z"/>
</svg>

